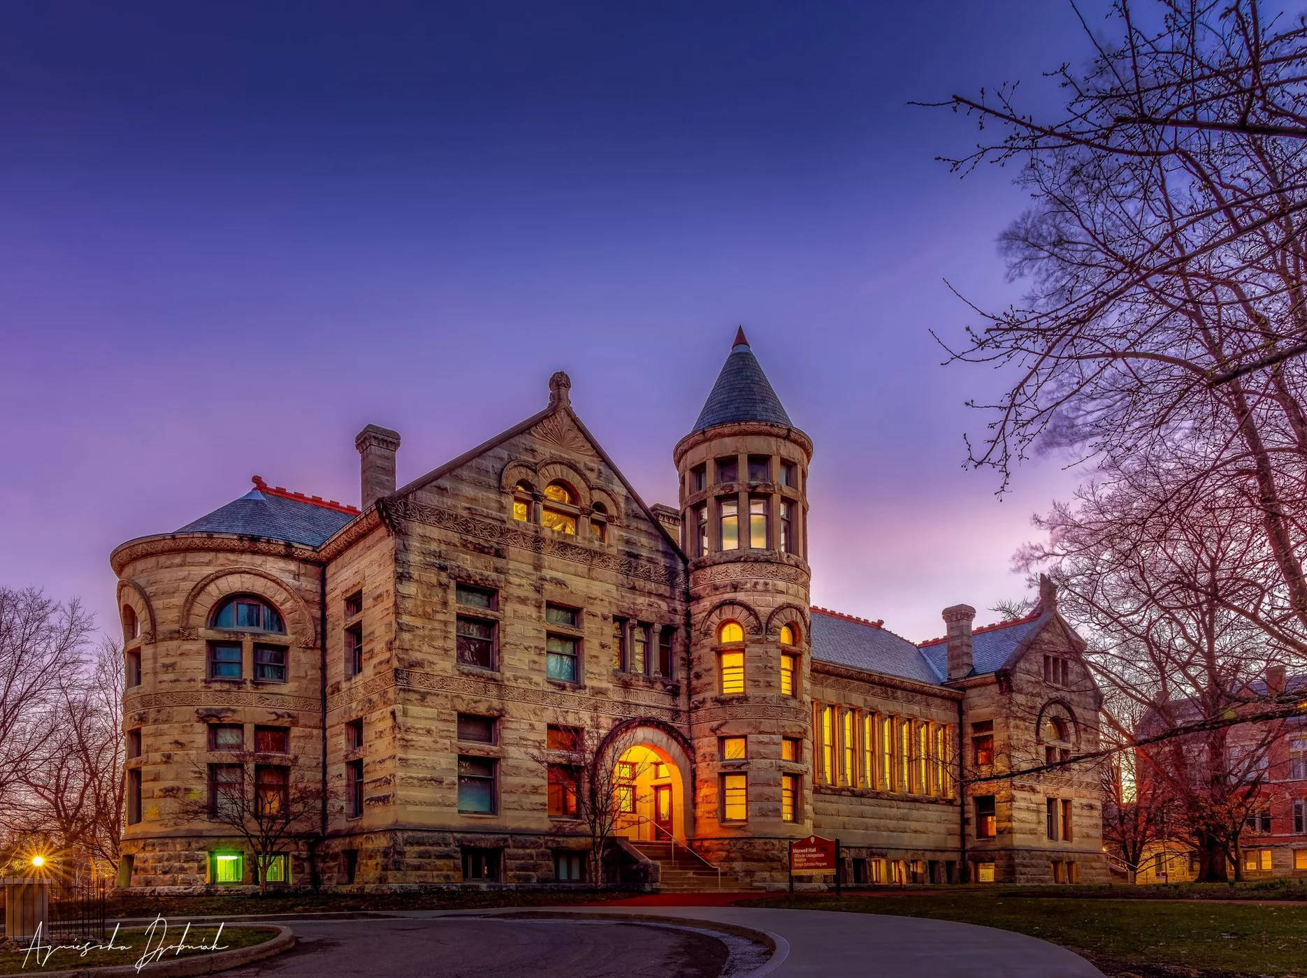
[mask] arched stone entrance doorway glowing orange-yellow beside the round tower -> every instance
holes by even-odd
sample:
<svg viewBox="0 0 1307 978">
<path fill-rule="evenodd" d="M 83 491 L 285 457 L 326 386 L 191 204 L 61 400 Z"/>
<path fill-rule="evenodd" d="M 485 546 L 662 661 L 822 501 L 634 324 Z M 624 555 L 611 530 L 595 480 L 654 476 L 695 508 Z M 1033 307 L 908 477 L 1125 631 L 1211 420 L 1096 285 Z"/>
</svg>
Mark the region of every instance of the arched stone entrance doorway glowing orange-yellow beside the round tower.
<svg viewBox="0 0 1307 978">
<path fill-rule="evenodd" d="M 661 725 L 623 725 L 613 731 L 608 757 L 618 810 L 613 834 L 684 844 L 694 829 L 694 774 L 684 738 Z"/>
</svg>

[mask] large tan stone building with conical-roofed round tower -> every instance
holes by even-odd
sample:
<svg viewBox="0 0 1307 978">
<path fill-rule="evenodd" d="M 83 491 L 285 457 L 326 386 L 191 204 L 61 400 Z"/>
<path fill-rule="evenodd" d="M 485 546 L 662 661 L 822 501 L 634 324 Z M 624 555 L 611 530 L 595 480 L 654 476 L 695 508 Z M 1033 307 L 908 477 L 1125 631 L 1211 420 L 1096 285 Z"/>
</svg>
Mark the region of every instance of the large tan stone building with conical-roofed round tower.
<svg viewBox="0 0 1307 978">
<path fill-rule="evenodd" d="M 673 450 L 676 507 L 644 504 L 569 388 L 399 488 L 400 436 L 366 427 L 361 508 L 255 477 L 114 551 L 123 885 L 252 883 L 231 829 L 184 815 L 247 764 L 271 803 L 323 789 L 274 881 L 584 883 L 575 772 L 549 759 L 586 730 L 627 879 L 780 887 L 814 833 L 856 883 L 1106 879 L 1095 776 L 1064 764 L 1099 697 L 1051 588 L 985 628 L 951 606 L 920 645 L 812 607 L 813 444 L 742 330 Z"/>
</svg>

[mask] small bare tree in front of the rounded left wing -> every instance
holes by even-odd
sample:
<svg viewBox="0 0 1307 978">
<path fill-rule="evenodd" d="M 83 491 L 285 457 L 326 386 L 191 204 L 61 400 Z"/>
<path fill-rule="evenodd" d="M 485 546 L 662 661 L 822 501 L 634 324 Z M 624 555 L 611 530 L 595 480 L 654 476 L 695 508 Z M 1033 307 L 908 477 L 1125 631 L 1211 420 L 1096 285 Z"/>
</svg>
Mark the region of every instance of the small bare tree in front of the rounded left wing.
<svg viewBox="0 0 1307 978">
<path fill-rule="evenodd" d="M 314 777 L 316 769 L 302 766 L 298 757 L 278 764 L 255 751 L 231 751 L 226 757 L 223 764 L 195 766 L 207 790 L 191 789 L 179 798 L 171 821 L 209 821 L 233 829 L 254 854 L 263 896 L 268 868 L 278 857 L 285 857 L 289 870 L 288 844 L 316 837 L 323 789 Z"/>
</svg>

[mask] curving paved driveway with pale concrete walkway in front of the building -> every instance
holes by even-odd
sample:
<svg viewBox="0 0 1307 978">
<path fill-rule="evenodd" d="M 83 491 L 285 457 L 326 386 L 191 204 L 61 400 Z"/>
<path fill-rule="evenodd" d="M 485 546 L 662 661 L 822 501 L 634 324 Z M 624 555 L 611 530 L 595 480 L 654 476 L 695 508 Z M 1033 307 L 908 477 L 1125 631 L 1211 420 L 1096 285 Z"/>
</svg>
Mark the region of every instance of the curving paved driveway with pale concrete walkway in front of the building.
<svg viewBox="0 0 1307 978">
<path fill-rule="evenodd" d="M 591 911 L 595 909 L 592 907 Z M 540 913 L 540 910 L 532 910 Z M 550 909 L 549 913 L 554 913 Z M 745 974 L 769 978 L 1102 978 L 1084 958 L 1022 934 L 951 921 L 826 910 L 605 907 L 605 915 L 720 922 L 765 931 L 778 953 Z M 413 911 L 348 921 L 280 921 L 301 936 L 291 954 L 235 978 L 714 978 L 725 947 L 695 931 L 621 921 L 514 919 L 512 911 Z"/>
</svg>

